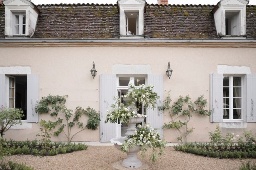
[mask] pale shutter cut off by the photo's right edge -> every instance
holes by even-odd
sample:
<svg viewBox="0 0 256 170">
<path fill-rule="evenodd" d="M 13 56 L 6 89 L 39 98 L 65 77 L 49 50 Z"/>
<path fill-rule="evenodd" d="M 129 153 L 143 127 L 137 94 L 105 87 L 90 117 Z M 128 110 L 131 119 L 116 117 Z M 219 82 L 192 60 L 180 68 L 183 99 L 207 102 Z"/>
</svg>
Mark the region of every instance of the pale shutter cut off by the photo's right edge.
<svg viewBox="0 0 256 170">
<path fill-rule="evenodd" d="M 246 75 L 247 122 L 256 122 L 256 74 Z"/>
</svg>

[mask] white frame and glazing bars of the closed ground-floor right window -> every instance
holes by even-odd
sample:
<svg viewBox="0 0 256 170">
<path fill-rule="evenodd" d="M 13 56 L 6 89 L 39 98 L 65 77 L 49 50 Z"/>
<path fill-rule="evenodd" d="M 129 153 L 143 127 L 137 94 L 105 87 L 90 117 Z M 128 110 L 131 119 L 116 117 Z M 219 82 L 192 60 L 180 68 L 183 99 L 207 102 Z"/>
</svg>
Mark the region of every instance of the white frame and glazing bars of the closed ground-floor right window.
<svg viewBox="0 0 256 170">
<path fill-rule="evenodd" d="M 244 121 L 244 108 L 246 107 L 245 105 L 244 105 L 244 84 L 245 84 L 245 82 L 244 82 L 244 75 L 223 75 L 223 78 L 224 77 L 229 77 L 229 104 L 230 104 L 230 106 L 229 106 L 229 113 L 230 113 L 230 118 L 228 118 L 228 119 L 224 119 L 223 118 L 223 122 L 230 122 L 230 121 L 232 121 L 232 122 L 240 122 L 240 121 Z M 233 118 L 233 77 L 241 77 L 241 119 L 234 119 Z M 226 87 L 226 86 L 223 86 L 223 87 Z M 224 97 L 222 97 L 223 99 L 224 99 Z M 223 102 L 224 100 L 222 100 L 222 102 Z M 224 104 L 224 103 L 223 103 Z M 222 115 L 224 114 L 224 109 L 225 108 L 223 108 L 223 112 L 222 112 Z M 238 109 L 240 109 L 240 108 L 238 108 Z"/>
</svg>

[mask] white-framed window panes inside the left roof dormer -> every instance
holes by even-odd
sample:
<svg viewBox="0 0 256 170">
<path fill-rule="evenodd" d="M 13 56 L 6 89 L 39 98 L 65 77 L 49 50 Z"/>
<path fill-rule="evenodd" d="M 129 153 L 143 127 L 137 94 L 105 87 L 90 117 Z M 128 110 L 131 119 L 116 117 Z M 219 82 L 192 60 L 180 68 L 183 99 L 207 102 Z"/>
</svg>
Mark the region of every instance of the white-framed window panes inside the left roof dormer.
<svg viewBox="0 0 256 170">
<path fill-rule="evenodd" d="M 13 35 L 25 35 L 26 34 L 26 14 L 14 13 L 13 16 L 14 16 Z"/>
</svg>

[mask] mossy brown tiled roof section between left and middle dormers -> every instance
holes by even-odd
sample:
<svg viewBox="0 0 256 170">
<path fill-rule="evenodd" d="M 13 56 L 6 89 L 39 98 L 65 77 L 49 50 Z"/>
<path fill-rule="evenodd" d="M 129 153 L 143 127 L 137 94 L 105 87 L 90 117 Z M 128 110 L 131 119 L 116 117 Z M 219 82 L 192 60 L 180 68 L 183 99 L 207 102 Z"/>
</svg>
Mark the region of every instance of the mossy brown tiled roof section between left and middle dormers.
<svg viewBox="0 0 256 170">
<path fill-rule="evenodd" d="M 33 38 L 118 38 L 117 6 L 55 4 L 38 6 L 40 15 Z"/>
</svg>

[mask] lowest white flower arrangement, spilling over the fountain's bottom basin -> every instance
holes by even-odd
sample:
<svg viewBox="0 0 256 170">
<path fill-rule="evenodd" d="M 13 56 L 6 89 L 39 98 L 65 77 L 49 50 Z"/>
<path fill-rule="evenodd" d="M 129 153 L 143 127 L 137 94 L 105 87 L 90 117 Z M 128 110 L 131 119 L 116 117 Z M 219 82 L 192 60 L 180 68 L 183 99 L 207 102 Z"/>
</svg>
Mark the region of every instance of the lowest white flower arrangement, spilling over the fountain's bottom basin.
<svg viewBox="0 0 256 170">
<path fill-rule="evenodd" d="M 142 146 L 141 150 L 142 157 L 145 156 L 147 147 L 153 148 L 150 159 L 155 162 L 157 161 L 157 150 L 159 148 L 158 155 L 163 154 L 163 148 L 166 146 L 166 141 L 160 138 L 160 134 L 154 130 L 149 124 L 144 124 L 142 127 L 140 124 L 137 126 L 138 129 L 129 135 L 127 139 L 123 142 L 121 150 L 123 152 L 128 152 L 129 147 L 135 147 L 136 145 Z"/>
</svg>

